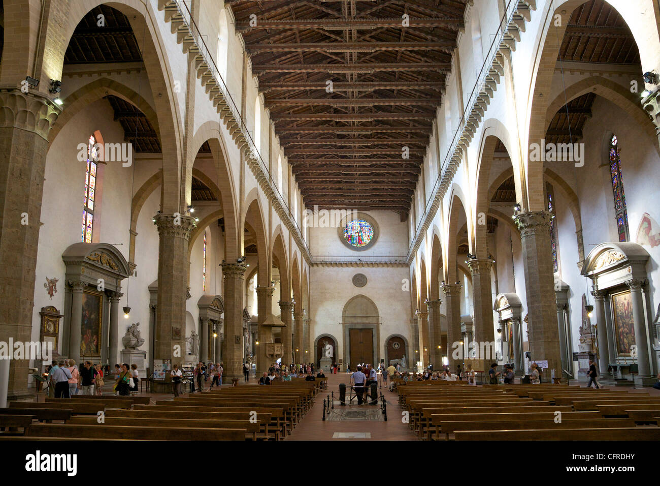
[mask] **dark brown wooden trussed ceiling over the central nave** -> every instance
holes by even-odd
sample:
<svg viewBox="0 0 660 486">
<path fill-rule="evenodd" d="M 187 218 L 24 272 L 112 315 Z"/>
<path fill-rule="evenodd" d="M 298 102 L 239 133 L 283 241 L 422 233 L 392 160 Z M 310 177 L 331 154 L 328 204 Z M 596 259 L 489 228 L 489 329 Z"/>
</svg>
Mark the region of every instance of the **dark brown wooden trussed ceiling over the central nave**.
<svg viewBox="0 0 660 486">
<path fill-rule="evenodd" d="M 405 218 L 465 0 L 227 3 L 306 206 Z"/>
</svg>

